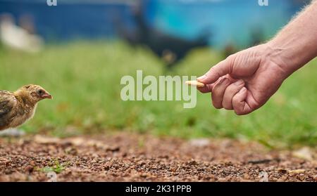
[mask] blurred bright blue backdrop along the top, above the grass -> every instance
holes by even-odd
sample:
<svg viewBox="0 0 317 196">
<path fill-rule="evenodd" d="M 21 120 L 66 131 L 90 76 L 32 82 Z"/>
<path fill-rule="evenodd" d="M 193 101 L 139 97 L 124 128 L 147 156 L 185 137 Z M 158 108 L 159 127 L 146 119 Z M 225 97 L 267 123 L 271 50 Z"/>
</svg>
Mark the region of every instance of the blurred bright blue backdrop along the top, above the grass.
<svg viewBox="0 0 317 196">
<path fill-rule="evenodd" d="M 147 25 L 160 32 L 190 40 L 209 31 L 211 46 L 243 48 L 254 39 L 272 37 L 307 2 L 269 0 L 269 6 L 259 6 L 258 0 L 57 0 L 57 6 L 47 6 L 46 0 L 0 0 L 0 14 L 11 13 L 15 21 L 27 15 L 45 41 L 116 39 L 118 26 L 125 32 L 135 29 L 133 7 L 139 3 Z"/>
</svg>

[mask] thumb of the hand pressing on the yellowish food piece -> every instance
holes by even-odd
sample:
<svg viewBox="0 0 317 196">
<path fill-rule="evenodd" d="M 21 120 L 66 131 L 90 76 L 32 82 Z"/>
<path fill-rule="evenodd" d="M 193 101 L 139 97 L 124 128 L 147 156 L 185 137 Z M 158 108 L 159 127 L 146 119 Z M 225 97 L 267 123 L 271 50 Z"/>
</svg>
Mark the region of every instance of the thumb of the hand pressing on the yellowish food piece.
<svg viewBox="0 0 317 196">
<path fill-rule="evenodd" d="M 224 76 L 225 74 L 230 74 L 231 67 L 232 58 L 226 58 L 217 65 L 211 67 L 211 69 L 208 72 L 206 72 L 206 74 L 204 74 L 201 77 L 198 77 L 197 80 L 204 84 L 213 84 L 215 81 L 217 81 L 220 77 Z"/>
</svg>

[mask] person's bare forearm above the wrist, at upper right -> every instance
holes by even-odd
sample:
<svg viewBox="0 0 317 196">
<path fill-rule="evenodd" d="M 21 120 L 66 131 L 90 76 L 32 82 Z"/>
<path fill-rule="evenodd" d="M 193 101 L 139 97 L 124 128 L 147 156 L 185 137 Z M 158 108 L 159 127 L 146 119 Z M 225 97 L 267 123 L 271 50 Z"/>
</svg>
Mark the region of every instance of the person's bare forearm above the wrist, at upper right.
<svg viewBox="0 0 317 196">
<path fill-rule="evenodd" d="M 270 55 L 288 74 L 317 56 L 317 1 L 267 43 Z"/>
</svg>

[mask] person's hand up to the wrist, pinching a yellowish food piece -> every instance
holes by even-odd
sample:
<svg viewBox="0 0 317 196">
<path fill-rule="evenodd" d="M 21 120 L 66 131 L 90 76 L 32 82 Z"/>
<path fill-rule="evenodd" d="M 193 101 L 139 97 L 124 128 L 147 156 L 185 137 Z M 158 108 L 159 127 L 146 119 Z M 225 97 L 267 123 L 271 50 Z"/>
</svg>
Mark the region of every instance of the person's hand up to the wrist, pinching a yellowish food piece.
<svg viewBox="0 0 317 196">
<path fill-rule="evenodd" d="M 253 112 L 290 75 L 285 61 L 274 52 L 268 44 L 262 44 L 230 55 L 197 79 L 206 84 L 199 91 L 211 92 L 217 109 L 235 110 L 237 115 Z"/>
</svg>

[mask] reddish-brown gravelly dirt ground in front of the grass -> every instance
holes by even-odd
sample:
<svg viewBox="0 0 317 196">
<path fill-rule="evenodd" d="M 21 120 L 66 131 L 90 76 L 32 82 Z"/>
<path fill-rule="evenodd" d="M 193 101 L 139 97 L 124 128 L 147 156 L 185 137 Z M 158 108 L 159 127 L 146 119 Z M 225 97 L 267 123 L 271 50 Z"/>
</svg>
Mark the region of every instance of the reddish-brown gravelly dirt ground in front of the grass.
<svg viewBox="0 0 317 196">
<path fill-rule="evenodd" d="M 127 133 L 0 138 L 0 181 L 317 181 L 316 150 L 298 153 Z"/>
</svg>

